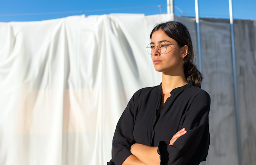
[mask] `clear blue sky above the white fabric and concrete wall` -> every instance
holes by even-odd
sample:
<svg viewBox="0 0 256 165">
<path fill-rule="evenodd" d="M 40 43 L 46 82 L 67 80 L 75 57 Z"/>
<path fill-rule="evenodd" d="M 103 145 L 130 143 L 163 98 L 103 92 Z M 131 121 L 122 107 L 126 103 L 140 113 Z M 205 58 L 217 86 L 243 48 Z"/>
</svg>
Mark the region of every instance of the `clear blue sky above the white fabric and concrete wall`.
<svg viewBox="0 0 256 165">
<path fill-rule="evenodd" d="M 256 0 L 232 0 L 234 19 L 256 20 Z M 229 18 L 228 0 L 198 0 L 199 16 L 203 18 Z M 0 0 L 0 22 L 10 21 L 40 21 L 62 18 L 77 13 L 64 14 L 35 14 L 35 15 L 6 15 L 6 14 L 33 14 L 48 12 L 69 12 L 82 10 L 102 10 L 111 8 L 130 8 L 119 10 L 84 12 L 88 15 L 110 13 L 142 13 L 145 15 L 159 14 L 157 5 L 166 5 L 166 0 Z M 176 6 L 174 14 L 195 16 L 194 0 L 174 0 Z M 141 8 L 132 8 L 144 6 Z M 146 7 L 152 6 L 152 7 Z M 166 13 L 167 7 L 161 7 L 161 13 Z"/>
</svg>

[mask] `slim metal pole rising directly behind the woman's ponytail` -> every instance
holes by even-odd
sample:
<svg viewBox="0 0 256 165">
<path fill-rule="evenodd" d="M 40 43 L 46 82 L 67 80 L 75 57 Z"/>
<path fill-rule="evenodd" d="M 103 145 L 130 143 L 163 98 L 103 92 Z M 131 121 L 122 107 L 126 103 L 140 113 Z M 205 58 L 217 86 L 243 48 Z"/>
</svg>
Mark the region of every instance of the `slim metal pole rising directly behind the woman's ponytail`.
<svg viewBox="0 0 256 165">
<path fill-rule="evenodd" d="M 199 65 L 199 71 L 202 73 L 202 56 L 201 56 L 201 38 L 200 38 L 198 0 L 195 0 L 195 7 L 196 7 L 196 31 L 197 31 L 198 65 Z M 203 89 L 203 83 L 201 85 L 201 89 Z"/>
</svg>

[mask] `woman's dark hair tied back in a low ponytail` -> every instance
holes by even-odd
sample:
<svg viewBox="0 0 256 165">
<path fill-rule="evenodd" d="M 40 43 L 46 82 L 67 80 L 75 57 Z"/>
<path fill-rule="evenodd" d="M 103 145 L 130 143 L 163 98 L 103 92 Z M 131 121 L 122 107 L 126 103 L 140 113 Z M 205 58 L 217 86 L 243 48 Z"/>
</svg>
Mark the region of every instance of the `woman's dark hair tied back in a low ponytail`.
<svg viewBox="0 0 256 165">
<path fill-rule="evenodd" d="M 183 62 L 185 77 L 189 83 L 192 82 L 194 86 L 201 88 L 203 76 L 196 68 L 195 63 L 193 64 L 194 59 L 196 60 L 196 58 L 193 51 L 192 40 L 186 26 L 180 22 L 175 21 L 158 24 L 152 30 L 150 34 L 150 39 L 152 37 L 152 34 L 160 29 L 163 30 L 167 36 L 174 39 L 178 43 L 178 45 L 180 45 L 180 47 L 184 45 L 188 46 L 188 54 L 184 58 Z"/>
</svg>

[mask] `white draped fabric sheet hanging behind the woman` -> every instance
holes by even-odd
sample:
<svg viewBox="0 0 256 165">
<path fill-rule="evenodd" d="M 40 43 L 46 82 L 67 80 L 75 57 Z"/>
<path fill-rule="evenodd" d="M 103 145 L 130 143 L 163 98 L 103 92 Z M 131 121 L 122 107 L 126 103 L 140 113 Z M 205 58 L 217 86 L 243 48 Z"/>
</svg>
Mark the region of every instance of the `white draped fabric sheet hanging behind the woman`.
<svg viewBox="0 0 256 165">
<path fill-rule="evenodd" d="M 133 93 L 161 82 L 146 46 L 172 18 L 0 22 L 0 164 L 106 165 Z"/>
</svg>

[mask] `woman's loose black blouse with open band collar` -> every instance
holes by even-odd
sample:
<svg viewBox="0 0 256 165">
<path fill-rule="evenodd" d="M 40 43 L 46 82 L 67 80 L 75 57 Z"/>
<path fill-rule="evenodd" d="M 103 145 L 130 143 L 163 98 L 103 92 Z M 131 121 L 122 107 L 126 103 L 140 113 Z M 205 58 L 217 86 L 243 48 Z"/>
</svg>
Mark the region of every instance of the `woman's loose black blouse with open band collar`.
<svg viewBox="0 0 256 165">
<path fill-rule="evenodd" d="M 161 84 L 138 90 L 128 102 L 116 126 L 108 165 L 122 165 L 132 154 L 130 147 L 134 143 L 158 146 L 161 165 L 198 165 L 206 160 L 210 145 L 210 96 L 192 83 L 175 88 L 156 117 Z M 168 145 L 182 128 L 187 133 Z"/>
</svg>

